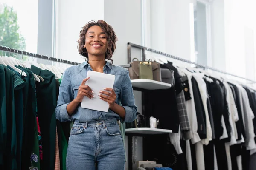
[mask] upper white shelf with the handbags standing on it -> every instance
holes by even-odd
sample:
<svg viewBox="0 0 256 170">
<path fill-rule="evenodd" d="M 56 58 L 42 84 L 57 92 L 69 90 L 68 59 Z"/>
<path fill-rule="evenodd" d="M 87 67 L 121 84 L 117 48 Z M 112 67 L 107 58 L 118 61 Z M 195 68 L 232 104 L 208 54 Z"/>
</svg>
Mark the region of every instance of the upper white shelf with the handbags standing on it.
<svg viewBox="0 0 256 170">
<path fill-rule="evenodd" d="M 172 85 L 165 82 L 158 82 L 150 79 L 134 79 L 131 80 L 132 87 L 147 89 L 147 90 L 158 90 L 158 89 L 168 89 Z"/>
</svg>

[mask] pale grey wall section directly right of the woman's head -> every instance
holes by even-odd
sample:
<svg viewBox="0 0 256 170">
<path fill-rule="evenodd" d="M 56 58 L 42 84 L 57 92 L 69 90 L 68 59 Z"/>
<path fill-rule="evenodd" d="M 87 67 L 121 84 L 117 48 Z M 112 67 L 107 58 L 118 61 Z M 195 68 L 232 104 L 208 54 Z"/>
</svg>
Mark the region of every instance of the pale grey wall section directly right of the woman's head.
<svg viewBox="0 0 256 170">
<path fill-rule="evenodd" d="M 114 64 L 127 64 L 127 42 L 142 43 L 141 1 L 105 0 L 104 20 L 113 27 L 118 38 Z"/>
</svg>

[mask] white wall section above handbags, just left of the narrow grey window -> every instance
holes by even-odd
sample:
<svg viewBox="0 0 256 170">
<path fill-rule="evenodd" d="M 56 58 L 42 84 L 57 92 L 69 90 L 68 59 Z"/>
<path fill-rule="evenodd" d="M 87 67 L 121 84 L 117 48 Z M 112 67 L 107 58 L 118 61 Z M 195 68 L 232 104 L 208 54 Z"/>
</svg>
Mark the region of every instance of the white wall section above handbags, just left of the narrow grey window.
<svg viewBox="0 0 256 170">
<path fill-rule="evenodd" d="M 151 48 L 190 60 L 190 0 L 151 0 Z"/>
</svg>

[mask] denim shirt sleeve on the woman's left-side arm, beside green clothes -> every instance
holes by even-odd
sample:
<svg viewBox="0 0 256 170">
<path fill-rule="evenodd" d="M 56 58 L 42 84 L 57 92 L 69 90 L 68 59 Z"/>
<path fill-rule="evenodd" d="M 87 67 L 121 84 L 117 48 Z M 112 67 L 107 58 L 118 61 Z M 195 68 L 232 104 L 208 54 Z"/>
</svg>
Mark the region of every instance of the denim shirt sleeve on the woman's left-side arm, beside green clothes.
<svg viewBox="0 0 256 170">
<path fill-rule="evenodd" d="M 67 105 L 73 100 L 73 98 L 73 88 L 70 81 L 69 70 L 67 69 L 61 80 L 57 107 L 55 108 L 56 119 L 60 122 L 72 121 L 73 116 L 68 115 Z"/>
</svg>

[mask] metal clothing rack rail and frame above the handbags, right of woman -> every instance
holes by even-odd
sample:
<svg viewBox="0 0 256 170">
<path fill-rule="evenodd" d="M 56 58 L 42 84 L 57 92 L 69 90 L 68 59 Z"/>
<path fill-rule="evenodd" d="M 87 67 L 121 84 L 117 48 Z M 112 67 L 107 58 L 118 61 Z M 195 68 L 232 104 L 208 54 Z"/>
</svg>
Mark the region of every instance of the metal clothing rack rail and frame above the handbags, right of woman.
<svg viewBox="0 0 256 170">
<path fill-rule="evenodd" d="M 160 54 L 160 55 L 163 55 L 163 56 L 166 56 L 166 57 L 170 57 L 172 59 L 177 59 L 179 61 L 182 61 L 182 62 L 187 62 L 189 64 L 194 64 L 196 66 L 198 66 L 198 68 L 203 68 L 203 69 L 209 69 L 209 70 L 212 70 L 212 71 L 217 71 L 219 73 L 222 73 L 222 74 L 227 74 L 227 75 L 230 75 L 230 76 L 233 76 L 233 77 L 238 77 L 240 79 L 245 79 L 247 81 L 250 81 L 250 82 L 253 82 L 253 83 L 256 83 L 256 81 L 254 80 L 251 80 L 251 79 L 247 79 L 247 78 L 244 78 L 244 77 L 241 77 L 241 76 L 237 76 L 235 74 L 231 74 L 231 73 L 227 73 L 226 71 L 221 71 L 221 70 L 218 70 L 216 68 L 213 68 L 213 67 L 209 67 L 209 66 L 206 66 L 206 65 L 200 65 L 198 63 L 195 63 L 195 62 L 192 62 L 192 61 L 189 61 L 187 59 L 183 59 L 183 58 L 180 58 L 180 57 L 176 57 L 176 56 L 173 56 L 173 55 L 170 55 L 170 54 L 166 54 L 166 53 L 163 53 L 161 51 L 157 51 L 157 50 L 154 50 L 154 49 L 151 49 L 151 48 L 147 48 L 147 47 L 143 47 L 141 45 L 137 45 L 137 44 L 133 44 L 131 42 L 128 42 L 128 47 L 127 47 L 127 54 L 128 54 L 128 63 L 131 62 L 131 48 L 134 47 L 134 48 L 139 48 L 142 50 L 142 61 L 145 61 L 145 51 L 150 51 L 150 52 L 153 52 L 153 53 L 156 53 L 156 54 Z"/>
</svg>

